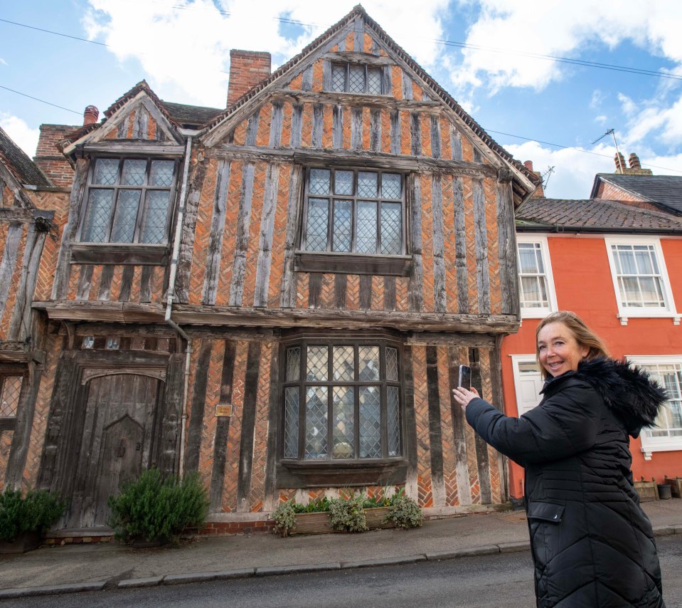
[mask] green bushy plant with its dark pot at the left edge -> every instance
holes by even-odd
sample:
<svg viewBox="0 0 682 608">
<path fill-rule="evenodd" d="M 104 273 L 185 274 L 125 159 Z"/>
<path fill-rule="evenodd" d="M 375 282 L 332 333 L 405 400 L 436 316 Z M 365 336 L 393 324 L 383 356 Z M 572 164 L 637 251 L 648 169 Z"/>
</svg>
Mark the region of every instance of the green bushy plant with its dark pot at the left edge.
<svg viewBox="0 0 682 608">
<path fill-rule="evenodd" d="M 58 496 L 46 490 L 21 490 L 10 487 L 0 494 L 0 553 L 23 553 L 37 549 L 43 530 L 57 522 L 65 509 Z"/>
</svg>

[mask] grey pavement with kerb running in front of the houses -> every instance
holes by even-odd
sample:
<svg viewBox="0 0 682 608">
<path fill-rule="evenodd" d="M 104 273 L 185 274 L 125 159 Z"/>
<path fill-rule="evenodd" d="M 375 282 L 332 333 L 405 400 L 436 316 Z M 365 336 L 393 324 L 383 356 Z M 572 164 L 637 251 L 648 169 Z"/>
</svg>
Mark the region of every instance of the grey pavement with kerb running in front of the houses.
<svg viewBox="0 0 682 608">
<path fill-rule="evenodd" d="M 682 500 L 642 503 L 656 535 L 682 534 Z M 0 556 L 0 599 L 528 550 L 523 511 L 427 521 L 415 530 L 281 538 L 252 534 L 131 549 L 117 543 Z"/>
</svg>

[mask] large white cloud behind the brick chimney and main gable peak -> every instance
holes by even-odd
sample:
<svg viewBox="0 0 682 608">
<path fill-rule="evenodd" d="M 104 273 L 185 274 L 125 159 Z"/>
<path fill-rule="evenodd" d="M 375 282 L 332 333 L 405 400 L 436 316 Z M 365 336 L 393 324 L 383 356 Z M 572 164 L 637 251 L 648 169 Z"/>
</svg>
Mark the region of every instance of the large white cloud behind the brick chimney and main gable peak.
<svg viewBox="0 0 682 608">
<path fill-rule="evenodd" d="M 139 61 L 161 98 L 222 107 L 230 48 L 268 51 L 274 68 L 339 21 L 357 0 L 88 1 L 82 24 L 90 39 L 107 43 L 122 63 Z M 368 0 L 363 6 L 408 53 L 429 67 L 443 52 L 436 39 L 443 38 L 439 15 L 449 1 L 428 0 L 418 11 L 407 0 Z"/>
</svg>

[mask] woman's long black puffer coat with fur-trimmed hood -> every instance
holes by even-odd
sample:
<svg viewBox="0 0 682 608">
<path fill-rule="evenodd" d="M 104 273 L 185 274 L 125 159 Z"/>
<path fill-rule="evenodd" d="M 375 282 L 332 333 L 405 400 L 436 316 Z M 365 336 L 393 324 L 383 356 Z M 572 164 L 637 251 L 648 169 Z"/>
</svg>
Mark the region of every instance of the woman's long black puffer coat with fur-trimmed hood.
<svg viewBox="0 0 682 608">
<path fill-rule="evenodd" d="M 664 607 L 629 436 L 654 423 L 665 399 L 646 372 L 600 358 L 550 379 L 520 418 L 469 402 L 469 424 L 526 468 L 538 606 Z"/>
</svg>

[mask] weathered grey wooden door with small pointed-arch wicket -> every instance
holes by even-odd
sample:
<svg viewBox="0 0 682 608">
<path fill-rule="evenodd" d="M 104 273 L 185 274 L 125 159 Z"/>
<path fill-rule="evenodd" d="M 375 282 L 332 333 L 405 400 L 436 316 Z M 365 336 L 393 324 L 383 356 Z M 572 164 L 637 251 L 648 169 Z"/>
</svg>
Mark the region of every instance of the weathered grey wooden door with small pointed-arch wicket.
<svg viewBox="0 0 682 608">
<path fill-rule="evenodd" d="M 66 528 L 106 525 L 109 496 L 151 465 L 160 385 L 155 377 L 129 373 L 87 382 L 80 456 Z"/>
</svg>

